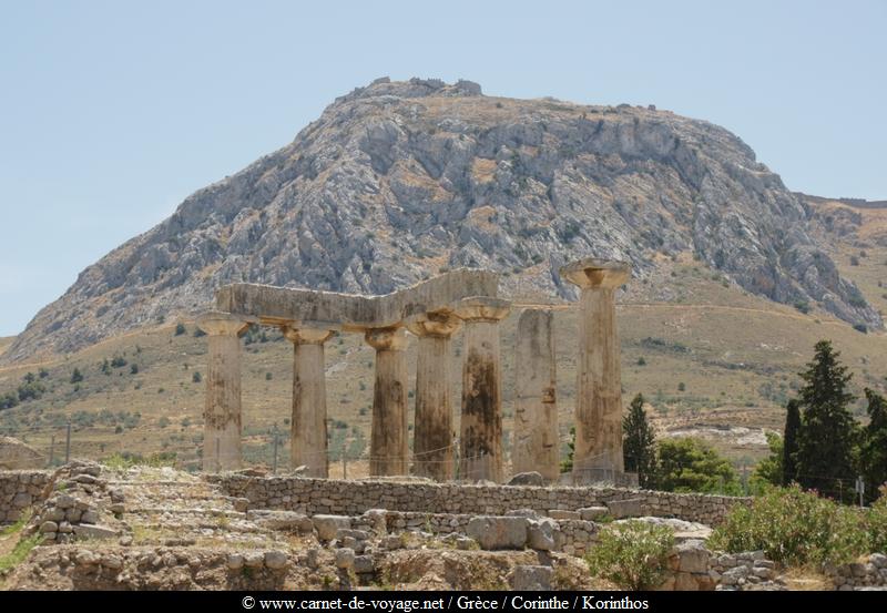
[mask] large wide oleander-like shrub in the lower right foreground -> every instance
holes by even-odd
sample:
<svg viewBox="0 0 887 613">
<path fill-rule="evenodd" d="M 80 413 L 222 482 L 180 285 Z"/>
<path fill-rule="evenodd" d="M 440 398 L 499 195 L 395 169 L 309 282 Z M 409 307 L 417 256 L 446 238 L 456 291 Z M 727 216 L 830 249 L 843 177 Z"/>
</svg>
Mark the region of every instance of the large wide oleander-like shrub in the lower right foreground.
<svg viewBox="0 0 887 613">
<path fill-rule="evenodd" d="M 734 507 L 708 544 L 733 553 L 763 550 L 789 566 L 822 566 L 866 553 L 869 538 L 857 509 L 793 486 L 772 488 L 750 507 Z"/>
</svg>

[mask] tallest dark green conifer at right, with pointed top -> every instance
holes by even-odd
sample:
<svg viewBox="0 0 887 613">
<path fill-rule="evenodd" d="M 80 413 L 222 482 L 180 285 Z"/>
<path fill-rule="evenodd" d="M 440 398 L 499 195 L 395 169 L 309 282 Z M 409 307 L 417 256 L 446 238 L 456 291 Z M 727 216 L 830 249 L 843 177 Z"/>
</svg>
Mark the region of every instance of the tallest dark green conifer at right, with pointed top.
<svg viewBox="0 0 887 613">
<path fill-rule="evenodd" d="M 855 399 L 847 391 L 853 375 L 838 356 L 832 343 L 820 340 L 801 374 L 805 386 L 799 391 L 803 413 L 795 456 L 798 483 L 829 498 L 846 498 L 854 480 L 855 421 L 847 410 Z"/>
</svg>

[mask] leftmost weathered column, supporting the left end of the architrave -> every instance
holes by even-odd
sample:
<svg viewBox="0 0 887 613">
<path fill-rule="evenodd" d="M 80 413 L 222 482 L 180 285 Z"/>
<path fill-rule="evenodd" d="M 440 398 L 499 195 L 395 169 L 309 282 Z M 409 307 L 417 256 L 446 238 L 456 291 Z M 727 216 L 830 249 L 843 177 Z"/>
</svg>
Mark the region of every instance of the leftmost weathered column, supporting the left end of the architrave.
<svg viewBox="0 0 887 613">
<path fill-rule="evenodd" d="M 241 339 L 249 324 L 227 313 L 197 319 L 206 333 L 206 399 L 203 410 L 203 470 L 241 468 Z"/>
</svg>

